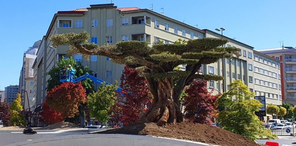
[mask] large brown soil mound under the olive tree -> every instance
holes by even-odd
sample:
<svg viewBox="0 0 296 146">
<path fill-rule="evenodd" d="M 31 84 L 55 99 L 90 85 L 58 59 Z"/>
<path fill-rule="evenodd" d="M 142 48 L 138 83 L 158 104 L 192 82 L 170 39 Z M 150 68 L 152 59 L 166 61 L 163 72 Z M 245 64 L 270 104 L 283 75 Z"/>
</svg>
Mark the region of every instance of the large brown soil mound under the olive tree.
<svg viewBox="0 0 296 146">
<path fill-rule="evenodd" d="M 204 142 L 222 146 L 259 146 L 245 137 L 211 125 L 177 123 L 157 126 L 155 123 L 133 123 L 118 129 L 97 132 L 97 134 L 139 134 L 155 137 L 169 137 Z"/>
</svg>

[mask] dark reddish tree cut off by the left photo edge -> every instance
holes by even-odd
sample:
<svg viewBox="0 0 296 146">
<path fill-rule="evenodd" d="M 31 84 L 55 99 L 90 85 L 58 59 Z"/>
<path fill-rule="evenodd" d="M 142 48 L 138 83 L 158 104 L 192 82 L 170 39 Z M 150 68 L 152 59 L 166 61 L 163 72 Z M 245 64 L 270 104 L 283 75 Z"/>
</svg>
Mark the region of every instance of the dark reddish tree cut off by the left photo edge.
<svg viewBox="0 0 296 146">
<path fill-rule="evenodd" d="M 0 120 L 4 126 L 9 126 L 9 119 L 11 116 L 10 106 L 6 102 L 0 102 Z"/>
</svg>

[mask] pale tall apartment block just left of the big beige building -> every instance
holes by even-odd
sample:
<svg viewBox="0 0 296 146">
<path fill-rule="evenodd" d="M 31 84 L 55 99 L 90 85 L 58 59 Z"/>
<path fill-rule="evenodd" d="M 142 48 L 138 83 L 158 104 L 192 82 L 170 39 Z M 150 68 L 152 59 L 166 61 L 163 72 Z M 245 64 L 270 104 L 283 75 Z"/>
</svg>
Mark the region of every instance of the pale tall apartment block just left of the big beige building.
<svg viewBox="0 0 296 146">
<path fill-rule="evenodd" d="M 36 59 L 36 53 L 41 40 L 34 43 L 32 47 L 29 47 L 27 51 L 24 52 L 22 69 L 20 72 L 20 82 L 19 82 L 19 93 L 22 93 L 23 106 L 25 110 L 29 111 L 30 108 L 34 106 L 33 98 L 33 63 Z M 26 91 L 26 92 L 25 92 Z M 28 93 L 28 94 L 27 94 Z M 30 109 L 33 110 L 33 109 Z"/>
</svg>

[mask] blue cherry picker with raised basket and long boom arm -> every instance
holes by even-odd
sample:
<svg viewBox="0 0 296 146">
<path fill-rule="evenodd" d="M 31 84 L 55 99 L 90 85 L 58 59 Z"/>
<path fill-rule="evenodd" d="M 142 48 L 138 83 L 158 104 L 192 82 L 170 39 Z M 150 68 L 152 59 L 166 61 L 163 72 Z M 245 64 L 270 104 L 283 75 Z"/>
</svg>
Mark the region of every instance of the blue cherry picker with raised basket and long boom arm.
<svg viewBox="0 0 296 146">
<path fill-rule="evenodd" d="M 96 78 L 88 73 L 80 76 L 80 77 L 77 77 L 75 79 L 75 70 L 74 69 L 62 69 L 60 70 L 60 82 L 73 82 L 73 83 L 78 83 L 86 78 L 89 78 L 90 80 L 92 80 L 93 82 L 95 83 L 98 83 L 98 84 L 102 84 L 103 82 L 105 82 L 105 86 L 106 85 L 112 85 L 104 80 L 101 80 L 99 78 Z M 116 86 L 117 87 L 117 86 Z M 126 90 L 123 90 L 121 89 L 120 87 L 117 87 L 117 89 L 115 90 L 116 92 L 118 93 L 121 93 L 122 95 L 126 95 L 126 94 L 130 94 L 130 92 L 126 91 Z"/>
</svg>

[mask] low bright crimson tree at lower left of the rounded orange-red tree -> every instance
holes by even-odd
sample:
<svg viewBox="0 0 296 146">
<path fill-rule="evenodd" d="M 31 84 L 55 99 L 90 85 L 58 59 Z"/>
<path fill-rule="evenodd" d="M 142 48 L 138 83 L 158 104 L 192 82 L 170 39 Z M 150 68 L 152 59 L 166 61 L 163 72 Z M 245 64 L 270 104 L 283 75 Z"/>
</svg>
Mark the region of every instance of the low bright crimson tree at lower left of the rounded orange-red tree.
<svg viewBox="0 0 296 146">
<path fill-rule="evenodd" d="M 39 114 L 42 116 L 39 118 L 39 121 L 41 121 L 44 124 L 51 125 L 57 122 L 63 121 L 62 113 L 58 113 L 54 109 L 51 109 L 47 104 L 46 100 L 44 100 L 42 104 L 43 111 Z"/>
</svg>

